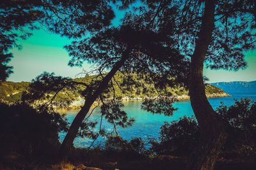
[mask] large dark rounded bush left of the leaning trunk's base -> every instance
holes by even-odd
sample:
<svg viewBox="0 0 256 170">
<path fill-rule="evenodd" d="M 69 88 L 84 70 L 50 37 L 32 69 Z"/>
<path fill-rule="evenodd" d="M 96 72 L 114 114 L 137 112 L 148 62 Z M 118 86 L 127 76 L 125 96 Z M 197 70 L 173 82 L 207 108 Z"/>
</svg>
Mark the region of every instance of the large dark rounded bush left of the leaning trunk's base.
<svg viewBox="0 0 256 170">
<path fill-rule="evenodd" d="M 0 120 L 1 154 L 48 155 L 60 145 L 58 132 L 67 131 L 63 116 L 36 111 L 26 104 L 0 104 Z"/>
</svg>

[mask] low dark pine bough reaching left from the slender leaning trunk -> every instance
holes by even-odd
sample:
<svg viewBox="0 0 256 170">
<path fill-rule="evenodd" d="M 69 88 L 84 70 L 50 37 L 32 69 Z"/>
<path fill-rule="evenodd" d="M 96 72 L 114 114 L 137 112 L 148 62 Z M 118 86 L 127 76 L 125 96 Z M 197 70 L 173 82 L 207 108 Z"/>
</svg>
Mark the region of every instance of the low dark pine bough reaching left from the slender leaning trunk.
<svg viewBox="0 0 256 170">
<path fill-rule="evenodd" d="M 28 90 L 22 94 L 22 101 L 29 104 L 35 103 L 42 106 L 67 107 L 77 97 L 76 87 L 83 85 L 72 81 L 71 78 L 55 76 L 54 73 L 42 73 L 32 80 Z M 72 92 L 74 91 L 74 92 Z M 61 96 L 59 93 L 61 92 Z M 41 101 L 41 102 L 40 102 Z"/>
</svg>

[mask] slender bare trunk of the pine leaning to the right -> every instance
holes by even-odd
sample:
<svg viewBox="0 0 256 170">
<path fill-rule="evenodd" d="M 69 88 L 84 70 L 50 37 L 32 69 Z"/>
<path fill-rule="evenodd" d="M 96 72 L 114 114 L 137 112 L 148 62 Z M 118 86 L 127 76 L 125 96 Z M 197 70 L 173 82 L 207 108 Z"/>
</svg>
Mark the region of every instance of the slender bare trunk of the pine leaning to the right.
<svg viewBox="0 0 256 170">
<path fill-rule="evenodd" d="M 113 68 L 111 69 L 111 71 L 104 78 L 102 78 L 102 81 L 100 82 L 99 87 L 97 87 L 97 89 L 95 89 L 94 92 L 91 92 L 91 94 L 89 94 L 86 97 L 86 100 L 84 101 L 84 106 L 77 113 L 76 117 L 74 118 L 67 132 L 67 135 L 65 136 L 65 139 L 61 144 L 61 148 L 60 148 L 61 159 L 64 159 L 65 157 L 67 157 L 68 152 L 73 147 L 73 141 L 76 138 L 79 127 L 81 126 L 92 104 L 100 96 L 100 94 L 102 94 L 103 90 L 108 87 L 108 83 L 111 80 L 111 78 L 113 78 L 116 71 L 118 71 L 120 67 L 124 65 L 125 60 L 128 58 L 128 53 L 129 53 L 128 50 L 126 50 L 123 53 L 122 59 L 116 62 Z"/>
</svg>

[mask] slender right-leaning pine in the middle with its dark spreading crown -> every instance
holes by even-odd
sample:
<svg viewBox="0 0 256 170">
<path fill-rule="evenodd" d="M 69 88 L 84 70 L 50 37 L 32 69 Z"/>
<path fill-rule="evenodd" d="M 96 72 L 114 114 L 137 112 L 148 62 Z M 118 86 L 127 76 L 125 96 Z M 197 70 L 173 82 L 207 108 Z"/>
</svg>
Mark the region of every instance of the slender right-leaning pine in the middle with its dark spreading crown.
<svg viewBox="0 0 256 170">
<path fill-rule="evenodd" d="M 106 66 L 112 67 L 109 73 L 106 74 L 106 76 L 104 76 L 99 82 L 99 85 L 93 88 L 88 87 L 88 89 L 86 90 L 86 101 L 84 103 L 84 106 L 81 108 L 81 111 L 77 113 L 77 116 L 74 122 L 72 122 L 70 130 L 68 131 L 68 134 L 61 145 L 62 155 L 65 155 L 65 153 L 67 153 L 68 150 L 70 150 L 70 148 L 72 147 L 72 143 L 74 141 L 74 138 L 76 138 L 79 126 L 83 122 L 84 117 L 86 117 L 92 104 L 96 101 L 98 97 L 100 97 L 105 89 L 108 89 L 109 82 L 111 82 L 111 79 L 113 78 L 115 73 L 122 67 L 123 70 L 126 71 L 137 71 L 139 69 L 140 71 L 150 71 L 147 66 L 150 66 L 150 64 L 152 64 L 153 66 L 150 66 L 151 69 L 153 69 L 151 72 L 156 74 L 156 72 L 158 71 L 159 75 L 157 76 L 166 76 L 166 78 L 170 78 L 172 77 L 172 75 L 175 75 L 178 78 L 182 78 L 182 76 L 186 75 L 182 71 L 180 71 L 180 74 L 177 74 L 177 67 L 184 67 L 184 70 L 186 70 L 188 62 L 184 60 L 184 57 L 182 55 L 180 55 L 180 57 L 178 58 L 177 52 L 173 48 L 171 48 L 171 46 L 164 46 L 166 45 L 164 44 L 166 41 L 170 41 L 167 36 L 164 36 L 163 34 L 156 34 L 156 32 L 147 30 L 147 28 L 145 27 L 138 27 L 133 29 L 129 25 L 124 25 L 118 29 L 107 29 L 106 31 L 99 32 L 97 36 L 92 37 L 87 42 L 74 41 L 72 45 L 67 46 L 67 49 L 70 51 L 70 55 L 72 56 L 70 64 L 79 65 L 83 60 L 97 62 L 100 64 L 100 74 L 102 73 L 102 71 L 104 71 L 104 68 Z M 152 47 L 158 47 L 163 53 L 163 59 L 160 65 L 158 65 L 159 62 L 156 62 L 158 58 L 154 58 L 156 57 L 154 53 L 155 51 L 150 51 Z M 156 60 L 155 62 L 154 59 Z M 170 61 L 173 62 L 172 67 L 170 67 Z M 138 62 L 142 64 L 142 67 L 138 66 Z M 165 67 L 167 66 L 166 63 L 168 63 L 169 67 Z M 158 69 L 155 66 L 158 66 Z M 166 73 L 168 74 L 160 74 L 161 71 L 164 71 L 164 69 L 168 70 L 166 71 Z M 171 81 L 179 80 L 173 77 L 170 82 Z M 115 94 L 113 95 L 113 100 L 115 101 Z M 168 109 L 166 110 L 166 108 L 163 108 L 162 110 L 157 110 L 157 112 L 161 112 L 164 110 L 166 114 L 168 113 L 169 115 L 171 115 L 173 111 L 172 105 L 171 103 L 167 102 L 169 101 L 167 97 L 165 98 L 165 100 L 166 102 L 162 103 L 161 106 L 166 106 L 166 108 Z M 101 101 L 104 104 L 104 101 Z M 148 103 L 147 105 L 149 105 Z"/>
</svg>

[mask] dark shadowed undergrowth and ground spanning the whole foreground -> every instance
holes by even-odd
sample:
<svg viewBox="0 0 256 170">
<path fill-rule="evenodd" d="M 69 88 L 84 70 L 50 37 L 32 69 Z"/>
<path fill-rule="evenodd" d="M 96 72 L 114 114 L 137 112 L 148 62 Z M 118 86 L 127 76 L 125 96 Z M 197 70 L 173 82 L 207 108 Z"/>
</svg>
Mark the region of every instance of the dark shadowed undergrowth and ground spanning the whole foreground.
<svg viewBox="0 0 256 170">
<path fill-rule="evenodd" d="M 250 99 L 217 108 L 230 136 L 216 169 L 255 167 L 255 108 Z M 72 148 L 67 160 L 58 162 L 58 132 L 67 131 L 64 117 L 21 104 L 0 104 L 0 110 L 0 169 L 184 169 L 186 157 L 200 139 L 195 117 L 182 117 L 165 122 L 150 148 L 145 148 L 141 138 L 127 141 L 113 135 L 95 148 Z"/>
</svg>

